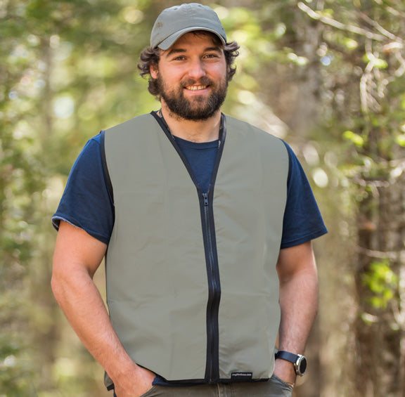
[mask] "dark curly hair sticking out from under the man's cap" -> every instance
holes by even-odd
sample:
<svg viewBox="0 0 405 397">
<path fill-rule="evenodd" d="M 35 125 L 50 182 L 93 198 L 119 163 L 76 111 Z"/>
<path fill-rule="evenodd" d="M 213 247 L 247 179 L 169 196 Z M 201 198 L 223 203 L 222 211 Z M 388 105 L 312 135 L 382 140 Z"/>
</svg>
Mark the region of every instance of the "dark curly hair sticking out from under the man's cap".
<svg viewBox="0 0 405 397">
<path fill-rule="evenodd" d="M 236 43 L 236 41 L 231 41 L 230 43 L 226 43 L 225 45 L 222 45 L 221 41 L 217 37 L 216 34 L 210 33 L 210 32 L 205 32 L 205 31 L 195 31 L 193 32 L 194 34 L 209 34 L 212 36 L 214 41 L 217 42 L 217 44 L 221 45 L 221 47 L 224 49 L 224 56 L 226 60 L 226 65 L 228 69 L 227 73 L 227 79 L 228 82 L 231 81 L 233 75 L 236 72 L 236 66 L 233 64 L 235 62 L 235 58 L 239 55 L 239 45 Z M 151 47 L 146 47 L 143 49 L 141 52 L 141 56 L 139 56 L 139 64 L 138 64 L 138 69 L 139 69 L 139 74 L 141 74 L 142 77 L 145 77 L 149 75 L 148 77 L 148 91 L 156 96 L 158 99 L 160 99 L 160 86 L 158 84 L 157 79 L 153 79 L 153 77 L 150 76 L 150 67 L 158 67 L 158 63 L 160 60 L 160 49 L 158 47 L 156 48 L 151 48 Z"/>
</svg>

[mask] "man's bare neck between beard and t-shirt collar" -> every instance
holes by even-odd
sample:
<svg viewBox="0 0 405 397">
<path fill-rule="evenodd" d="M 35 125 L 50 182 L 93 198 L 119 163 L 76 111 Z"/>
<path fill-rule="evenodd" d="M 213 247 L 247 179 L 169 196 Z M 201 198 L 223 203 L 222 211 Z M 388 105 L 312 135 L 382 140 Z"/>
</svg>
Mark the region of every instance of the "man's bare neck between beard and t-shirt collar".
<svg viewBox="0 0 405 397">
<path fill-rule="evenodd" d="M 191 142 L 211 142 L 219 138 L 221 111 L 206 120 L 187 120 L 174 115 L 162 101 L 162 116 L 172 135 Z"/>
</svg>

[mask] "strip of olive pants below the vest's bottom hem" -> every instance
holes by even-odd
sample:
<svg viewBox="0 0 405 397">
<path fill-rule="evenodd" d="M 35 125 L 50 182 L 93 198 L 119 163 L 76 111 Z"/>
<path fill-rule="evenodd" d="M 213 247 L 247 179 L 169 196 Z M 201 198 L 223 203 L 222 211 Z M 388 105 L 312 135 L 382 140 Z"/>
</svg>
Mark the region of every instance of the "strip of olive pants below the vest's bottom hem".
<svg viewBox="0 0 405 397">
<path fill-rule="evenodd" d="M 291 397 L 292 393 L 291 386 L 273 375 L 267 382 L 197 386 L 156 385 L 140 397 Z"/>
</svg>

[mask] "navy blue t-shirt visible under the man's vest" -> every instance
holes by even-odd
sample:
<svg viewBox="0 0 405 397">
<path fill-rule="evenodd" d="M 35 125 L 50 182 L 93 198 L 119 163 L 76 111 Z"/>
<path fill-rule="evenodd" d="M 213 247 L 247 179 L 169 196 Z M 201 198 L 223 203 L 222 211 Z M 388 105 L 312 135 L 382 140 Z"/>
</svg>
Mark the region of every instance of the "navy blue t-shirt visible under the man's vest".
<svg viewBox="0 0 405 397">
<path fill-rule="evenodd" d="M 181 138 L 175 140 L 200 187 L 206 192 L 219 141 L 193 143 Z M 294 247 L 327 233 L 304 170 L 293 150 L 286 143 L 285 146 L 290 167 L 281 248 Z M 99 135 L 86 143 L 70 171 L 58 209 L 52 217 L 56 229 L 61 220 L 82 228 L 105 244 L 110 240 L 114 207 L 103 173 Z"/>
</svg>

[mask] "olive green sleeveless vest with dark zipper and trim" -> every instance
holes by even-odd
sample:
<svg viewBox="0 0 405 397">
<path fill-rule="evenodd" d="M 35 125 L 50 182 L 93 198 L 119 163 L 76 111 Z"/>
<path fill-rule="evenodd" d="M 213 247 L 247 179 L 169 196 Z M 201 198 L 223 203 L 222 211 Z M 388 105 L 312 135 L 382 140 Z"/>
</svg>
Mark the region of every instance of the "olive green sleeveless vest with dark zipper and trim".
<svg viewBox="0 0 405 397">
<path fill-rule="evenodd" d="M 288 152 L 250 124 L 223 121 L 208 195 L 157 115 L 105 131 L 110 318 L 136 363 L 177 383 L 274 370 Z"/>
</svg>

